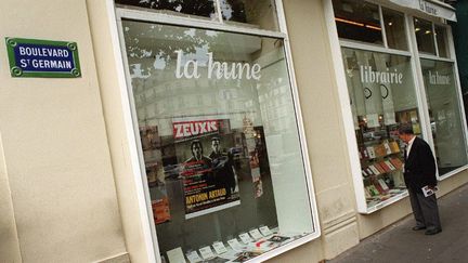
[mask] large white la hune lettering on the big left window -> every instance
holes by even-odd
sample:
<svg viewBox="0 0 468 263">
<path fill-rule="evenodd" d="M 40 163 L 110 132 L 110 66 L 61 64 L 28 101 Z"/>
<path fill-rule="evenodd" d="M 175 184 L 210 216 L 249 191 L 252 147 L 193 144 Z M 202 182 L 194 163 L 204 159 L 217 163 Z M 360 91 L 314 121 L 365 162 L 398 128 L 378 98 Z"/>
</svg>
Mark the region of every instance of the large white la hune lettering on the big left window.
<svg viewBox="0 0 468 263">
<path fill-rule="evenodd" d="M 185 63 L 182 63 L 183 52 L 181 50 L 176 51 L 177 65 L 176 65 L 176 78 L 200 78 L 200 74 L 198 73 L 198 62 L 188 60 Z M 208 55 L 208 66 L 207 66 L 207 78 L 211 79 L 255 79 L 260 80 L 261 78 L 261 66 L 260 64 L 250 65 L 249 63 L 240 63 L 240 62 L 218 62 L 213 60 L 213 54 L 211 52 L 207 53 Z"/>
</svg>

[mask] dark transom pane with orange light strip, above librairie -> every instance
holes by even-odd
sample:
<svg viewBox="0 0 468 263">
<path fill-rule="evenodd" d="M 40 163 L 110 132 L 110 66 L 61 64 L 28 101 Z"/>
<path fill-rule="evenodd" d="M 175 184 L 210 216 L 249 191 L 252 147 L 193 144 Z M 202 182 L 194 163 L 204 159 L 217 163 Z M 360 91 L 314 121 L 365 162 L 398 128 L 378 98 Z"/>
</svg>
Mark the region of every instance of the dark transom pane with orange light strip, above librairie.
<svg viewBox="0 0 468 263">
<path fill-rule="evenodd" d="M 378 6 L 365 1 L 333 0 L 338 37 L 384 44 Z"/>
</svg>

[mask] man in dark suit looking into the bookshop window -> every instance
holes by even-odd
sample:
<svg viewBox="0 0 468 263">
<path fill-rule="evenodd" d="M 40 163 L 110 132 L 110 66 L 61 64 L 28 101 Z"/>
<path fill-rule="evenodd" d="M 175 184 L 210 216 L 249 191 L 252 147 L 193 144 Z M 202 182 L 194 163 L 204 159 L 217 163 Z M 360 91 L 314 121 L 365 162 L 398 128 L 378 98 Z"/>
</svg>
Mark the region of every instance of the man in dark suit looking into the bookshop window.
<svg viewBox="0 0 468 263">
<path fill-rule="evenodd" d="M 435 235 L 442 232 L 442 227 L 434 194 L 438 181 L 432 150 L 422 139 L 414 135 L 411 124 L 402 124 L 399 136 L 406 143 L 404 180 L 416 220 L 413 231 L 426 229 L 426 235 Z M 432 194 L 426 196 L 422 188 L 429 189 Z"/>
</svg>

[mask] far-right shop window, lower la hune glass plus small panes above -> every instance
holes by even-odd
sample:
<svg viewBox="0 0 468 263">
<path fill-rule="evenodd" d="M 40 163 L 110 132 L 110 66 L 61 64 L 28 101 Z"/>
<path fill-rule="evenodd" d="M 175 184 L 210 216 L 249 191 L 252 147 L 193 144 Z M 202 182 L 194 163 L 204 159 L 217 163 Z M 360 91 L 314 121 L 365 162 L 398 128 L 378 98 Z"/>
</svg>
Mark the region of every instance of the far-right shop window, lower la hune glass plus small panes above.
<svg viewBox="0 0 468 263">
<path fill-rule="evenodd" d="M 466 167 L 467 148 L 460 96 L 443 25 L 414 18 L 439 176 Z M 442 61 L 443 60 L 443 61 Z"/>
</svg>

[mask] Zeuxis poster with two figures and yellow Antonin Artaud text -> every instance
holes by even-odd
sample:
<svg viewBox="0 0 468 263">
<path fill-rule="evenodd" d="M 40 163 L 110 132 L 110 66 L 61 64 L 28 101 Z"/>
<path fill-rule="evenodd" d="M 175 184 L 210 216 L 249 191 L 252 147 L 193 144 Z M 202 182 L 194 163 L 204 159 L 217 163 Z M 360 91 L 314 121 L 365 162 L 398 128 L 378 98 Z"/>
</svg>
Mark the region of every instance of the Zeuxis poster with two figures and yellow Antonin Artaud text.
<svg viewBox="0 0 468 263">
<path fill-rule="evenodd" d="M 172 122 L 185 219 L 240 205 L 227 119 Z"/>
</svg>

